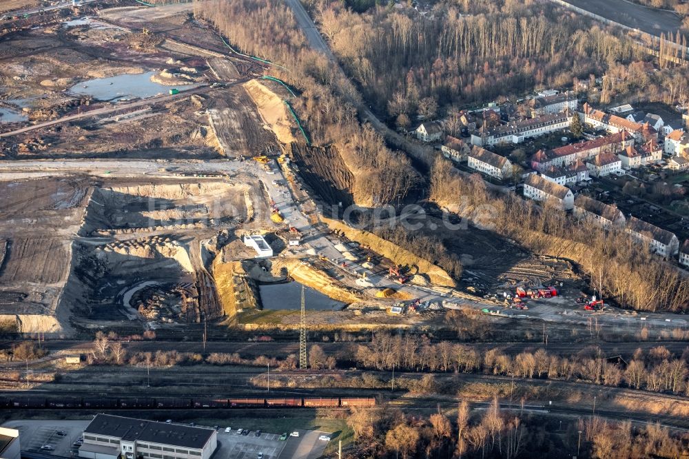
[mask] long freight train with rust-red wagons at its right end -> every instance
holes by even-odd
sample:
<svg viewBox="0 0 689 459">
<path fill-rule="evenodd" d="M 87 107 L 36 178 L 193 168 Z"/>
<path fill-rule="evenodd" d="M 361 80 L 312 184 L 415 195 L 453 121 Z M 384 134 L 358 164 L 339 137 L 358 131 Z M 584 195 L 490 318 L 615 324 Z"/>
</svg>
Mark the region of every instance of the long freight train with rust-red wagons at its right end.
<svg viewBox="0 0 689 459">
<path fill-rule="evenodd" d="M 373 397 L 112 398 L 19 395 L 0 397 L 0 409 L 347 408 L 375 405 L 376 399 Z"/>
</svg>

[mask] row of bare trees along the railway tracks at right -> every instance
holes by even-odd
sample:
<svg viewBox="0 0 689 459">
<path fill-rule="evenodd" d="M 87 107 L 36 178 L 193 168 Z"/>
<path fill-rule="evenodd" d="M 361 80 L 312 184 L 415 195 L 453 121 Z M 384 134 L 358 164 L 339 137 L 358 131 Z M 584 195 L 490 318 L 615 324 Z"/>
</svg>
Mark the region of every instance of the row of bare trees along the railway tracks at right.
<svg viewBox="0 0 689 459">
<path fill-rule="evenodd" d="M 411 335 L 378 333 L 371 344 L 358 345 L 354 357 L 360 367 L 407 371 L 484 373 L 519 378 L 586 381 L 610 387 L 626 386 L 689 396 L 687 362 L 689 347 L 674 357 L 668 349 L 654 347 L 644 354 L 637 349 L 621 365 L 608 360 L 599 349 L 590 348 L 572 356 L 556 356 L 544 349 L 524 351 L 512 357 L 500 349 L 480 351 L 473 347 L 429 340 Z"/>
</svg>

